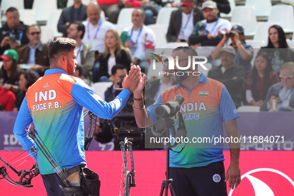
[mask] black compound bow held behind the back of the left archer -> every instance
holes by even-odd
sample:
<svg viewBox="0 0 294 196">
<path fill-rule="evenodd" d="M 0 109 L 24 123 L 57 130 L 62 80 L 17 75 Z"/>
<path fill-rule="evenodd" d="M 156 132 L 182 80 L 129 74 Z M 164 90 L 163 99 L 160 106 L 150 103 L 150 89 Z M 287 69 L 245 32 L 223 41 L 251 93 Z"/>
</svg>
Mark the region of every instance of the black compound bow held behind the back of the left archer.
<svg viewBox="0 0 294 196">
<path fill-rule="evenodd" d="M 90 122 L 89 122 L 89 128 L 88 128 L 88 132 L 87 132 L 87 135 L 85 136 L 85 145 L 84 145 L 84 149 L 85 151 L 88 150 L 89 146 L 90 146 L 90 143 L 93 139 L 93 136 L 94 136 L 94 132 L 95 132 L 95 129 L 96 129 L 96 123 L 97 123 L 97 115 L 95 115 L 93 112 L 87 110 L 84 114 L 86 113 L 89 113 L 89 118 L 90 118 Z M 85 116 L 85 115 L 84 115 Z M 92 121 L 94 120 L 94 125 L 93 125 L 93 128 L 92 128 Z M 91 130 L 92 130 L 92 134 L 90 136 L 90 133 L 91 133 Z M 26 155 L 25 157 L 29 156 L 29 158 L 27 158 L 26 160 L 30 159 L 31 156 L 34 156 L 37 154 L 37 151 L 35 150 L 34 146 L 31 147 L 30 149 L 28 150 L 31 150 L 32 153 Z M 27 152 L 28 150 L 22 152 L 20 155 L 22 155 L 23 153 Z M 18 155 L 17 157 L 19 157 L 20 155 Z M 13 158 L 12 160 L 16 159 L 17 157 Z M 21 158 L 21 159 L 24 159 L 25 157 Z M 17 160 L 17 161 L 20 161 L 21 159 Z M 12 161 L 11 160 L 11 161 Z M 25 161 L 26 161 L 25 160 Z M 16 163 L 17 161 L 15 161 L 14 163 L 12 164 L 9 164 L 11 161 L 9 162 L 6 162 L 4 161 L 2 158 L 0 158 L 0 161 L 2 161 L 4 163 L 4 165 L 6 165 L 9 169 L 11 169 L 11 171 L 13 171 L 19 178 L 18 181 L 14 181 L 12 180 L 12 178 L 8 175 L 10 172 L 7 172 L 6 171 L 6 167 L 4 167 L 4 165 L 2 167 L 0 167 L 0 180 L 1 179 L 5 179 L 8 183 L 10 183 L 11 185 L 15 185 L 15 186 L 20 186 L 20 187 L 25 187 L 25 188 L 32 188 L 33 185 L 31 185 L 31 180 L 38 176 L 40 174 L 39 172 L 39 168 L 38 168 L 38 164 L 35 163 L 31 169 L 29 170 L 20 170 L 20 171 L 17 171 L 16 168 L 18 166 L 20 166 L 22 163 L 24 163 L 25 161 L 23 161 L 21 164 L 19 164 L 17 167 L 12 167 L 11 165 Z"/>
</svg>

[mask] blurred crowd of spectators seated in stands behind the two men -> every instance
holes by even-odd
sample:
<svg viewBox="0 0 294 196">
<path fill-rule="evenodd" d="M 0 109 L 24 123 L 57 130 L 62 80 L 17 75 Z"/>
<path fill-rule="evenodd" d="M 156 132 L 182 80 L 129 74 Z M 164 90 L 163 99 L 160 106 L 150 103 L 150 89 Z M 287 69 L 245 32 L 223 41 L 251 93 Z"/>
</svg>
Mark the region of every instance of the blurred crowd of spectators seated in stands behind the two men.
<svg viewBox="0 0 294 196">
<path fill-rule="evenodd" d="M 26 8 L 31 8 L 33 0 L 25 2 Z M 97 0 L 88 5 L 74 0 L 73 6 L 65 7 L 66 0 L 59 0 L 59 8 L 65 8 L 57 29 L 78 43 L 74 76 L 89 86 L 98 82 L 113 82 L 115 86 L 132 65 L 139 65 L 147 74 L 151 66 L 145 52 L 154 51 L 156 46 L 156 35 L 148 25 L 167 4 L 174 6 L 169 0 Z M 123 7 L 135 8 L 132 26 L 118 33 L 115 23 Z M 100 18 L 101 10 L 106 19 Z M 167 42 L 187 44 L 205 56 L 211 64 L 207 77 L 226 86 L 237 108 L 255 105 L 261 111 L 293 111 L 294 52 L 283 28 L 271 26 L 268 45 L 253 49 L 246 44 L 243 27 L 221 18 L 220 12 L 230 12 L 228 0 L 182 0 L 171 12 Z M 0 110 L 18 111 L 27 89 L 50 67 L 48 44 L 40 41 L 40 26 L 25 25 L 16 8 L 10 7 L 4 14 L 7 20 L 0 28 Z M 150 84 L 148 93 L 154 100 L 172 85 L 170 76 L 154 77 Z M 113 93 L 108 89 L 107 95 L 109 92 Z"/>
</svg>

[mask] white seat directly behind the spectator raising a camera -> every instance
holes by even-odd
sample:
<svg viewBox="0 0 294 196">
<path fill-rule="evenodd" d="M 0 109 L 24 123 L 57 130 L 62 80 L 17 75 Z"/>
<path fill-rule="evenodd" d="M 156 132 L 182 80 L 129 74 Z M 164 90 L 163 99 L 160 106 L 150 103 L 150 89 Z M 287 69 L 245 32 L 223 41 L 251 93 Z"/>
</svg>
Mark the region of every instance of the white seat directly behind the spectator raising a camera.
<svg viewBox="0 0 294 196">
<path fill-rule="evenodd" d="M 253 36 L 256 32 L 257 21 L 253 7 L 236 6 L 231 17 L 232 25 L 240 23 L 245 36 Z"/>
</svg>

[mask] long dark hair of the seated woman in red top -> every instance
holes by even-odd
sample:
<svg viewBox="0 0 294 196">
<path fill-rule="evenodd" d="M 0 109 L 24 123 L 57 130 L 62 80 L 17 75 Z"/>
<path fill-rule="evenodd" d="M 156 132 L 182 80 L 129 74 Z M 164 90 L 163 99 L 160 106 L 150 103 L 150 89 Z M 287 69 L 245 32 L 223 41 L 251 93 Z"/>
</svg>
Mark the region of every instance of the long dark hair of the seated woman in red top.
<svg viewBox="0 0 294 196">
<path fill-rule="evenodd" d="M 269 56 L 268 53 L 261 51 L 257 54 L 256 58 L 258 56 L 262 56 L 263 58 L 266 59 L 267 61 L 267 67 L 265 69 L 265 73 L 264 73 L 264 83 L 263 83 L 263 97 L 262 100 L 264 100 L 266 98 L 268 89 L 269 89 L 269 85 L 270 85 L 270 73 L 273 71 L 272 68 L 272 61 L 271 58 Z M 255 58 L 255 60 L 256 60 Z M 255 60 L 254 60 L 254 66 L 253 66 L 253 70 L 252 70 L 252 84 L 251 84 L 251 91 L 252 91 L 252 97 L 254 98 L 255 101 L 260 100 L 259 98 L 259 93 L 256 89 L 256 82 L 257 82 L 257 78 L 258 78 L 258 73 L 257 73 L 257 69 L 255 67 Z"/>
</svg>

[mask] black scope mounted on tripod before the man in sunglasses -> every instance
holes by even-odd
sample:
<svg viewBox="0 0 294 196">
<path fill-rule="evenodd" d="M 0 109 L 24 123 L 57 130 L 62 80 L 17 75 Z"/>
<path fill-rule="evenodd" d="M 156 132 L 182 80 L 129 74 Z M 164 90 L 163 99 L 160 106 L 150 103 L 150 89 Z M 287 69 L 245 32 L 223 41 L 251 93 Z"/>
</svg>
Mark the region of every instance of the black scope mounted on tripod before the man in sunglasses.
<svg viewBox="0 0 294 196">
<path fill-rule="evenodd" d="M 184 102 L 182 96 L 177 96 L 174 101 L 168 101 L 165 105 L 158 105 L 155 108 L 155 115 L 158 117 L 173 117 L 180 110 L 181 104 Z"/>
</svg>

